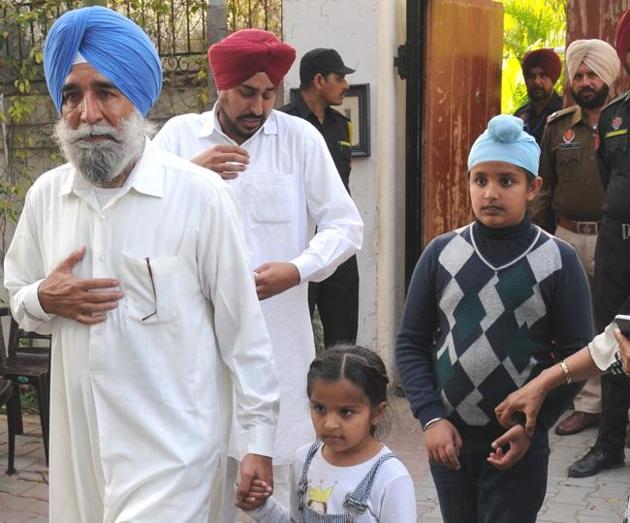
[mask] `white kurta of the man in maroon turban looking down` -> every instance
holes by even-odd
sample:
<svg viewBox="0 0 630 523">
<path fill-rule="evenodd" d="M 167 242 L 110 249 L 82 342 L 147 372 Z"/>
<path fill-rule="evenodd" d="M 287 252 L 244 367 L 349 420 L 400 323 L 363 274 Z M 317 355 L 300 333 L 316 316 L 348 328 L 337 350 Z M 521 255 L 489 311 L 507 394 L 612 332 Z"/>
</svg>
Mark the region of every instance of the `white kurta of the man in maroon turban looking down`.
<svg viewBox="0 0 630 523">
<path fill-rule="evenodd" d="M 172 118 L 153 142 L 187 160 L 213 145 L 236 144 L 214 110 Z M 241 204 L 250 267 L 291 262 L 301 277 L 300 285 L 261 302 L 280 378 L 274 462 L 289 464 L 294 451 L 314 438 L 306 398 L 315 357 L 306 283 L 327 278 L 361 248 L 363 222 L 326 142 L 307 121 L 274 110 L 241 147 L 249 164 L 228 183 Z M 231 455 L 240 458 L 242 435 L 235 442 Z"/>
</svg>

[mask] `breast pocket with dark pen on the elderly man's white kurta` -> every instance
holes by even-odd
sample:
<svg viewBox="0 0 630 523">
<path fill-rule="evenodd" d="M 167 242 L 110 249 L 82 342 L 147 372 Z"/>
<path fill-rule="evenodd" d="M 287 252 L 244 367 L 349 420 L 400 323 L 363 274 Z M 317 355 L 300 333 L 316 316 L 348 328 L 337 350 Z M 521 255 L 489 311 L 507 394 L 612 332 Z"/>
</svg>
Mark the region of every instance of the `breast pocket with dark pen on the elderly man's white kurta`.
<svg viewBox="0 0 630 523">
<path fill-rule="evenodd" d="M 120 284 L 128 317 L 144 324 L 177 316 L 177 256 L 135 258 L 122 253 Z"/>
</svg>

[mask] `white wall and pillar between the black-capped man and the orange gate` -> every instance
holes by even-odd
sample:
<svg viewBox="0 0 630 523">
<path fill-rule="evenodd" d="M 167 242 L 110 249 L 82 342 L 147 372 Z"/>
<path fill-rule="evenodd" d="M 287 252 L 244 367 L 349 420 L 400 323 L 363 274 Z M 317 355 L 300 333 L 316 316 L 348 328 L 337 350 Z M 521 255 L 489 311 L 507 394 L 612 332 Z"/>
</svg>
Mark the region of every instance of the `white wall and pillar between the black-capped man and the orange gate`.
<svg viewBox="0 0 630 523">
<path fill-rule="evenodd" d="M 354 158 L 350 189 L 365 222 L 359 255 L 358 343 L 388 364 L 404 286 L 404 82 L 393 58 L 404 42 L 404 0 L 284 0 L 284 39 L 298 52 L 285 93 L 299 85 L 299 60 L 315 47 L 335 48 L 370 84 L 371 156 Z"/>
</svg>

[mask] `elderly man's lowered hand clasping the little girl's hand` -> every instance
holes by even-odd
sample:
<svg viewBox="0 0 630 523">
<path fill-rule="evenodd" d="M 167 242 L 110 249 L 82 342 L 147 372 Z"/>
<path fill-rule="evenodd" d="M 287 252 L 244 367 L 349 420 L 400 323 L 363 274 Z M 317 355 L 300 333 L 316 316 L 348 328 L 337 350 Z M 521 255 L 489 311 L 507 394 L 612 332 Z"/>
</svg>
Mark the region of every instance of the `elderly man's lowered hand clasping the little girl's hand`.
<svg viewBox="0 0 630 523">
<path fill-rule="evenodd" d="M 272 492 L 271 458 L 246 454 L 241 461 L 241 481 L 236 490 L 236 506 L 243 510 L 254 510 L 264 505 Z"/>
</svg>

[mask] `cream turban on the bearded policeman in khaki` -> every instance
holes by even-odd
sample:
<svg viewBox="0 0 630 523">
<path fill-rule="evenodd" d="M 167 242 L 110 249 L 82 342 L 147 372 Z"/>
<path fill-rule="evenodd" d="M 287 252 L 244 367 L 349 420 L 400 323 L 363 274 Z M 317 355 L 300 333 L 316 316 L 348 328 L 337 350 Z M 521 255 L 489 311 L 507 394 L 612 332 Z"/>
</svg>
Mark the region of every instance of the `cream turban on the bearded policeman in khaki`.
<svg viewBox="0 0 630 523">
<path fill-rule="evenodd" d="M 621 62 L 614 47 L 597 39 L 571 42 L 567 47 L 566 61 L 569 81 L 573 80 L 582 63 L 592 69 L 608 87 L 615 83 L 621 70 Z"/>
</svg>

